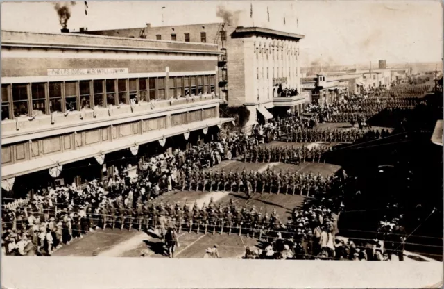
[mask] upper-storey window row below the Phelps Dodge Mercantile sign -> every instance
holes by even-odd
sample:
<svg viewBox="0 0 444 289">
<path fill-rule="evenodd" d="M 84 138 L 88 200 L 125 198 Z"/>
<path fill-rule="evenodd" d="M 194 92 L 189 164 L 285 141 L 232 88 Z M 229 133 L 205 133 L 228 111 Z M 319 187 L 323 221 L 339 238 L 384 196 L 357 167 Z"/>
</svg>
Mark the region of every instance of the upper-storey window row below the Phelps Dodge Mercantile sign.
<svg viewBox="0 0 444 289">
<path fill-rule="evenodd" d="M 1 120 L 214 92 L 214 75 L 1 85 Z"/>
</svg>

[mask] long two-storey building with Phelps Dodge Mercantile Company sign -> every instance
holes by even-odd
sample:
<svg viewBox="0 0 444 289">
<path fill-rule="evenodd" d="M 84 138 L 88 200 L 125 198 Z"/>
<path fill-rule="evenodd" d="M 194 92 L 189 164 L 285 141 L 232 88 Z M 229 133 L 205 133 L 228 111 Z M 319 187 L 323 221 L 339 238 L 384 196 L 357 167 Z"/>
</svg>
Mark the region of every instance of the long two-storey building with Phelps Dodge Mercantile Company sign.
<svg viewBox="0 0 444 289">
<path fill-rule="evenodd" d="M 216 44 L 11 31 L 1 40 L 1 177 L 17 178 L 13 190 L 109 178 L 122 159 L 210 140 L 232 121 L 219 117 Z"/>
</svg>

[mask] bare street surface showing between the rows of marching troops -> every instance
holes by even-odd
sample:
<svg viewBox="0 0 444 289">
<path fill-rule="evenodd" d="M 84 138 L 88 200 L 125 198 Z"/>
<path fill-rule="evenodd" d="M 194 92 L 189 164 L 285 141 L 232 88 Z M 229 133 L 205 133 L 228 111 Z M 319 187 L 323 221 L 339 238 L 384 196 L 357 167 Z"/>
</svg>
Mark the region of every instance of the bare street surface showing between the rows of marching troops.
<svg viewBox="0 0 444 289">
<path fill-rule="evenodd" d="M 264 146 L 291 146 L 300 145 L 295 143 L 287 142 L 271 142 L 265 144 Z M 314 144 L 306 144 L 314 145 Z M 225 170 L 229 172 L 230 170 L 255 170 L 264 171 L 268 167 L 273 168 L 273 170 L 282 170 L 282 172 L 298 171 L 300 173 L 321 173 L 323 176 L 329 176 L 334 174 L 339 170 L 339 166 L 324 164 L 324 163 L 302 163 L 300 165 L 293 165 L 287 163 L 244 163 L 240 160 L 225 160 L 215 167 L 211 167 L 209 170 Z M 285 220 L 286 216 L 291 213 L 294 207 L 300 207 L 302 201 L 306 198 L 299 195 L 284 195 L 284 194 L 268 194 L 256 193 L 248 199 L 243 192 L 201 192 L 201 191 L 172 191 L 167 192 L 164 195 L 155 199 L 158 204 L 161 201 L 164 203 L 169 202 L 170 204 L 176 203 L 178 201 L 180 204 L 185 204 L 187 202 L 190 206 L 196 202 L 198 206 L 202 206 L 204 203 L 208 204 L 210 199 L 213 198 L 214 203 L 217 204 L 228 204 L 230 199 L 238 207 L 246 206 L 251 208 L 253 205 L 256 209 L 264 213 L 271 213 L 273 209 L 278 210 L 278 214 L 281 220 Z M 257 236 L 255 238 L 247 238 L 244 234 L 239 236 L 237 231 L 228 236 L 225 231 L 220 234 L 216 232 L 214 235 L 212 232 L 206 235 L 200 231 L 197 234 L 195 231 L 188 233 L 187 231 L 182 231 L 179 234 L 180 247 L 178 247 L 176 252 L 176 257 L 178 258 L 201 258 L 205 253 L 207 247 L 212 247 L 214 243 L 219 244 L 219 253 L 223 258 L 241 258 L 244 256 L 245 247 L 258 245 Z M 53 256 L 122 256 L 122 257 L 136 257 L 141 255 L 143 249 L 148 249 L 149 257 L 153 258 L 165 258 L 163 252 L 163 242 L 155 235 L 146 232 L 138 232 L 135 229 L 128 231 L 124 229 L 120 231 L 115 229 L 112 231 L 107 228 L 104 231 L 102 229 L 97 229 L 94 232 L 88 233 L 82 239 L 73 240 L 70 245 L 65 245 L 58 251 L 56 251 Z"/>
</svg>

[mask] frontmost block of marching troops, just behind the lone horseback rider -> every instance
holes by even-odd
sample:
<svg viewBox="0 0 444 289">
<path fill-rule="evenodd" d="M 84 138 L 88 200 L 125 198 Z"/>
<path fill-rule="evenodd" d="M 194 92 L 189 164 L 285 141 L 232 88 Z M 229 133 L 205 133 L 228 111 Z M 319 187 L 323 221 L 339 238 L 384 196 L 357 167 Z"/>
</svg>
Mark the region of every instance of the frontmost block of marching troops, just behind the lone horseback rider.
<svg viewBox="0 0 444 289">
<path fill-rule="evenodd" d="M 338 181 L 336 181 L 336 184 Z M 187 201 L 183 206 L 176 204 L 138 204 L 135 211 L 126 210 L 115 212 L 112 209 L 105 209 L 99 217 L 99 225 L 105 228 L 107 225 L 114 229 L 116 226 L 128 229 L 134 225 L 139 231 L 159 230 L 160 236 L 164 236 L 168 228 L 174 228 L 178 233 L 187 231 L 187 233 L 236 233 L 251 238 L 264 236 L 273 236 L 275 233 L 282 232 L 288 237 L 288 234 L 296 234 L 301 238 L 305 230 L 312 226 L 311 219 L 318 217 L 311 211 L 307 218 L 302 215 L 298 208 L 293 208 L 291 217 L 287 218 L 287 223 L 282 222 L 278 210 L 273 208 L 271 213 L 266 210 L 262 213 L 262 208 L 253 205 L 250 208 L 246 206 L 236 206 L 232 199 L 229 204 L 219 204 L 216 206 L 213 199 L 209 204 L 203 204 L 201 207 L 195 202 L 194 206 L 189 206 Z M 307 212 L 304 212 L 307 213 Z M 330 210 L 322 210 L 319 213 L 330 213 Z M 294 219 L 294 220 L 293 220 Z M 297 236 L 296 236 L 297 238 Z"/>
</svg>

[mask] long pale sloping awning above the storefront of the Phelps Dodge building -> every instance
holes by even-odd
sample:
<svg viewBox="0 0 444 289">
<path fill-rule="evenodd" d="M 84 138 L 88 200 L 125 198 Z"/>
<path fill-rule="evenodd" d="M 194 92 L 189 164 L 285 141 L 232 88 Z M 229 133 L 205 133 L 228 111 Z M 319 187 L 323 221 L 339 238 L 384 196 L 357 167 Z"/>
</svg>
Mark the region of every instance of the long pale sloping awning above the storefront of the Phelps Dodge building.
<svg viewBox="0 0 444 289">
<path fill-rule="evenodd" d="M 84 160 L 86 158 L 93 158 L 100 154 L 108 154 L 113 151 L 120 151 L 121 149 L 128 149 L 135 145 L 142 145 L 148 142 L 155 142 L 162 138 L 169 138 L 173 135 L 180 135 L 188 131 L 197 131 L 198 129 L 204 129 L 207 126 L 216 126 L 221 123 L 231 122 L 234 120 L 231 117 L 228 118 L 214 118 L 205 119 L 202 122 L 193 122 L 191 124 L 183 124 L 181 126 L 174 126 L 169 129 L 162 129 L 160 131 L 151 131 L 150 133 L 144 133 L 142 135 L 134 135 L 129 138 L 122 138 L 113 140 L 112 142 L 102 142 L 97 145 L 89 145 L 81 147 L 74 151 L 66 151 L 61 154 L 53 154 L 51 156 L 44 156 L 43 158 L 36 158 L 24 163 L 17 163 L 15 165 L 5 165 L 1 167 L 1 179 L 9 179 L 15 176 L 21 176 L 24 174 L 30 174 L 32 172 L 38 172 L 40 170 L 46 170 L 58 165 L 65 165 L 67 163 L 74 163 L 78 160 Z"/>
</svg>

